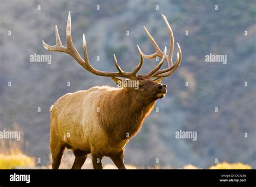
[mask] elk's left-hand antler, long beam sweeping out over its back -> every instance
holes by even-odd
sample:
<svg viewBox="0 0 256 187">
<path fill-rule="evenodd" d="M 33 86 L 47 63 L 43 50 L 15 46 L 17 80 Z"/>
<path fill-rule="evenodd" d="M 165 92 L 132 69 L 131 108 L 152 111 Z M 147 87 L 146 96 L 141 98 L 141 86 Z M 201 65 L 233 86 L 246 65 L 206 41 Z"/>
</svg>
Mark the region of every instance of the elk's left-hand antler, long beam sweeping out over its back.
<svg viewBox="0 0 256 187">
<path fill-rule="evenodd" d="M 84 47 L 84 59 L 85 60 L 80 56 L 80 54 L 78 53 L 78 51 L 76 50 L 76 47 L 74 46 L 74 44 L 72 42 L 70 12 L 69 12 L 69 16 L 68 16 L 68 22 L 67 22 L 67 25 L 66 25 L 66 44 L 67 44 L 66 47 L 64 47 L 62 45 L 62 42 L 60 41 L 57 25 L 55 26 L 55 34 L 56 34 L 56 44 L 53 45 L 53 46 L 50 46 L 50 45 L 46 44 L 43 41 L 44 48 L 46 50 L 48 50 L 48 51 L 60 51 L 60 52 L 64 52 L 64 53 L 70 54 L 70 56 L 73 57 L 83 68 L 85 68 L 85 70 L 87 70 L 87 71 L 89 71 L 89 72 L 91 72 L 93 74 L 96 74 L 96 75 L 99 75 L 99 76 L 104 76 L 104 77 L 125 77 L 125 78 L 133 79 L 133 78 L 136 77 L 136 73 L 142 67 L 142 64 L 143 64 L 143 53 L 140 50 L 139 46 L 137 45 L 138 50 L 139 50 L 139 55 L 140 55 L 140 62 L 134 68 L 134 70 L 132 72 L 125 72 L 125 71 L 123 71 L 118 66 L 118 62 L 117 62 L 117 59 L 116 59 L 115 55 L 114 55 L 114 61 L 115 61 L 115 64 L 116 64 L 118 72 L 105 72 L 105 71 L 99 71 L 99 70 L 96 70 L 95 68 L 93 68 L 91 66 L 90 62 L 89 62 L 89 59 L 88 59 L 87 47 L 86 47 L 86 41 L 85 41 L 84 34 L 83 34 L 83 47 Z"/>
</svg>

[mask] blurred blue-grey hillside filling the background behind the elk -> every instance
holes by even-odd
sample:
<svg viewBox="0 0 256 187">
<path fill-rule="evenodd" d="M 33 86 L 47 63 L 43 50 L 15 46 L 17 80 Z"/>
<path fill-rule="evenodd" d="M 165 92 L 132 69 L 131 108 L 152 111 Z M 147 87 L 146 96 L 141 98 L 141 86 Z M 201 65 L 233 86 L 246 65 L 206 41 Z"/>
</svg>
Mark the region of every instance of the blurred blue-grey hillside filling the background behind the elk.
<svg viewBox="0 0 256 187">
<path fill-rule="evenodd" d="M 97 5 L 100 10 L 96 10 Z M 154 52 L 143 25 L 161 49 L 168 46 L 161 13 L 181 46 L 183 61 L 179 70 L 163 81 L 168 93 L 157 101 L 159 112 L 153 110 L 140 133 L 126 146 L 127 164 L 179 168 L 191 163 L 208 168 L 218 158 L 255 169 L 255 1 L 2 0 L 0 10 L 0 130 L 18 123 L 24 140 L 30 143 L 29 155 L 41 158 L 42 164 L 50 163 L 50 106 L 68 92 L 115 86 L 110 78 L 86 72 L 68 54 L 43 49 L 42 40 L 55 44 L 56 24 L 65 45 L 66 19 L 71 10 L 73 42 L 83 54 L 85 33 L 91 64 L 99 70 L 116 71 L 115 53 L 122 69 L 131 71 L 139 60 L 136 44 L 146 54 Z M 31 63 L 34 53 L 51 54 L 52 63 Z M 210 53 L 226 54 L 227 64 L 206 63 L 205 56 Z M 155 60 L 145 60 L 140 73 L 156 64 Z M 197 141 L 176 139 L 175 132 L 180 129 L 197 131 Z"/>
</svg>

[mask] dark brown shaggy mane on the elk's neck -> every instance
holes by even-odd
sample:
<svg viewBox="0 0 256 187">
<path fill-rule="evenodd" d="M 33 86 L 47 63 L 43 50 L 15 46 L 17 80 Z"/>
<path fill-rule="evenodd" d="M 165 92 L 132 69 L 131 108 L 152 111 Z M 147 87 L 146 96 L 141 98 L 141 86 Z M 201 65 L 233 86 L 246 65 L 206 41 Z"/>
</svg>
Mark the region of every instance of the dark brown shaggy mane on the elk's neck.
<svg viewBox="0 0 256 187">
<path fill-rule="evenodd" d="M 127 140 L 136 135 L 156 103 L 124 88 L 111 91 L 111 97 L 102 101 L 106 113 L 100 123 L 112 140 Z"/>
</svg>

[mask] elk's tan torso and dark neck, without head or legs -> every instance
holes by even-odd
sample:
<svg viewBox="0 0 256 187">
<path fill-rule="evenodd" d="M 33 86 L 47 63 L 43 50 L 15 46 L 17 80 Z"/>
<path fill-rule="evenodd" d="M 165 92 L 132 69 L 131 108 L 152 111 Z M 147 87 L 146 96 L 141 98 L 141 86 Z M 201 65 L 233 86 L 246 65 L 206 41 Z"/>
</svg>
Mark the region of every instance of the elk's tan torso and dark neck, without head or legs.
<svg viewBox="0 0 256 187">
<path fill-rule="evenodd" d="M 109 86 L 65 94 L 50 110 L 51 150 L 68 144 L 97 156 L 118 154 L 155 103 L 139 102 L 126 89 Z"/>
</svg>

